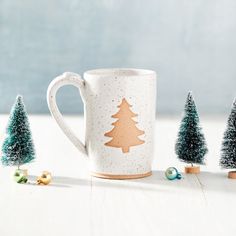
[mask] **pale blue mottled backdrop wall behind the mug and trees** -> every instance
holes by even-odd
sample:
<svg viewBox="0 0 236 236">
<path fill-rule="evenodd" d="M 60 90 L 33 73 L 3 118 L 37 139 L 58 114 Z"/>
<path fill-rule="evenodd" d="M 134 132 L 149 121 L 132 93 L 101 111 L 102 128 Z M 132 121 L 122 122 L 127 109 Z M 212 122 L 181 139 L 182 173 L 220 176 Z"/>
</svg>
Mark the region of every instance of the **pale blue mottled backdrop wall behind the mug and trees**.
<svg viewBox="0 0 236 236">
<path fill-rule="evenodd" d="M 64 71 L 138 67 L 159 74 L 159 113 L 181 113 L 192 90 L 201 113 L 226 114 L 235 12 L 235 0 L 0 0 L 0 112 L 20 93 L 29 112 L 47 113 L 47 86 Z M 83 109 L 75 88 L 59 103 Z"/>
</svg>

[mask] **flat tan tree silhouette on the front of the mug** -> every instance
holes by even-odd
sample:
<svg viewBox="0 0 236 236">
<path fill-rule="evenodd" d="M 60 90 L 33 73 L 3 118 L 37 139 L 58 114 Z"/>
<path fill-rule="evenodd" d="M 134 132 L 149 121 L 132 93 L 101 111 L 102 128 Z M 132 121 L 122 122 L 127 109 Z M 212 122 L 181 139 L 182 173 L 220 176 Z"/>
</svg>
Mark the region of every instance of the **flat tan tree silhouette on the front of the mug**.
<svg viewBox="0 0 236 236">
<path fill-rule="evenodd" d="M 115 126 L 111 131 L 105 133 L 106 137 L 112 137 L 113 139 L 107 143 L 106 146 L 121 148 L 123 153 L 129 152 L 131 146 L 143 144 L 144 141 L 139 139 L 138 136 L 144 134 L 144 131 L 139 130 L 135 124 L 138 122 L 134 121 L 132 117 L 136 117 L 137 114 L 130 110 L 132 107 L 125 98 L 119 106 L 120 110 L 112 115 L 112 118 L 118 120 L 112 123 Z"/>
</svg>

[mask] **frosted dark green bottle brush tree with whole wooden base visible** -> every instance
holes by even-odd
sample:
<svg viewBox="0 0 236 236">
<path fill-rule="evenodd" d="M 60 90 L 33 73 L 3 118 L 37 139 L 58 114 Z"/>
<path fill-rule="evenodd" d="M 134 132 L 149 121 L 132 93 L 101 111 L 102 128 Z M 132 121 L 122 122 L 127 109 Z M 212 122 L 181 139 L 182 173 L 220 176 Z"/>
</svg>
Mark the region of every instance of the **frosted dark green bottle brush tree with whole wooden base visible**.
<svg viewBox="0 0 236 236">
<path fill-rule="evenodd" d="M 199 166 L 193 166 L 193 164 L 205 164 L 204 156 L 208 149 L 199 123 L 196 105 L 191 92 L 189 92 L 175 145 L 178 158 L 191 164 L 190 167 L 185 167 L 187 173 L 200 171 Z"/>
</svg>

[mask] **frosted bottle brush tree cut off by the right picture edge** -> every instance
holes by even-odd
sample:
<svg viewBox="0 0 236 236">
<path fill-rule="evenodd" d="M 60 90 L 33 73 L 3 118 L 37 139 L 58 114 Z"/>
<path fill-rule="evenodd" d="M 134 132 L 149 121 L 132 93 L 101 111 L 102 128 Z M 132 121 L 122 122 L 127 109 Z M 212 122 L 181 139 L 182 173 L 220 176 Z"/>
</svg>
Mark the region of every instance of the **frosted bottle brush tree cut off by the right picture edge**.
<svg viewBox="0 0 236 236">
<path fill-rule="evenodd" d="M 220 166 L 224 169 L 236 169 L 236 100 L 233 102 L 224 132 Z M 236 171 L 230 171 L 228 177 L 236 179 Z"/>
</svg>

